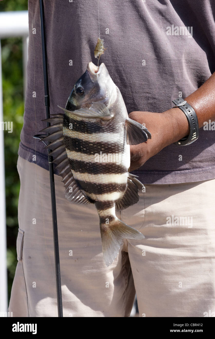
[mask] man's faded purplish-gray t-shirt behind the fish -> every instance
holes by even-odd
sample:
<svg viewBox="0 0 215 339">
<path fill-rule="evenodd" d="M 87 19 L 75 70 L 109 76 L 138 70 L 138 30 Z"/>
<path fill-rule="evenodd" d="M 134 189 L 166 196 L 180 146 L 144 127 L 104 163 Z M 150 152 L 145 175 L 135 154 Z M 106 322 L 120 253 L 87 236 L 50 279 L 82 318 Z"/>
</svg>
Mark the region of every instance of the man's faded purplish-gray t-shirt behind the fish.
<svg viewBox="0 0 215 339">
<path fill-rule="evenodd" d="M 214 0 L 45 0 L 51 114 L 62 113 L 57 105 L 65 107 L 87 63 L 97 63 L 93 51 L 99 37 L 98 5 L 100 38 L 107 47 L 100 60 L 119 87 L 128 113 L 166 111 L 173 99 L 187 97 L 215 71 Z M 36 154 L 37 164 L 48 169 L 47 150 L 33 139 L 46 127 L 41 122 L 46 111 L 39 1 L 29 0 L 28 12 L 27 92 L 18 153 L 30 162 Z M 206 127 L 209 130 L 201 128 L 193 144 L 172 144 L 133 173 L 146 184 L 214 179 L 215 131 L 213 124 Z"/>
</svg>

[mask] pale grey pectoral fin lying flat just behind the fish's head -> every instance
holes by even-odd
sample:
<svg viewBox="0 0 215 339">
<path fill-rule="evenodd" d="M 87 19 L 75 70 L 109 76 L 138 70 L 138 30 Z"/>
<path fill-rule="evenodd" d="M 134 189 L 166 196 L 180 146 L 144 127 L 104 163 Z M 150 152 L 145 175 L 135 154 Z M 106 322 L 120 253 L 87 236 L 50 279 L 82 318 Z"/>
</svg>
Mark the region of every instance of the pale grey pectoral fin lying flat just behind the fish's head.
<svg viewBox="0 0 215 339">
<path fill-rule="evenodd" d="M 102 119 L 102 120 L 110 120 L 113 118 L 113 113 L 110 113 L 109 109 L 105 106 L 102 102 L 93 102 L 90 108 L 80 108 L 76 109 L 75 111 L 68 111 L 66 108 L 59 108 L 63 109 L 64 112 L 71 113 L 76 115 L 80 118 L 87 118 L 87 119 Z"/>
</svg>

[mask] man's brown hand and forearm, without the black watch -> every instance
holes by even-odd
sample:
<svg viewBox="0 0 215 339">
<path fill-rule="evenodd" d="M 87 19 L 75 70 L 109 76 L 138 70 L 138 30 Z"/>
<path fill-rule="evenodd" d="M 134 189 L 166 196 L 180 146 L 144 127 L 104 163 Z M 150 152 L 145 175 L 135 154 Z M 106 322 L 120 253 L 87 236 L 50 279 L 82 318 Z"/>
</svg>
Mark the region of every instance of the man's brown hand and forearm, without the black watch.
<svg viewBox="0 0 215 339">
<path fill-rule="evenodd" d="M 215 72 L 201 87 L 184 100 L 195 110 L 199 128 L 203 126 L 205 121 L 210 119 L 214 121 Z M 188 120 L 184 112 L 178 107 L 170 108 L 163 113 L 131 112 L 129 118 L 141 124 L 145 123 L 146 128 L 148 128 L 152 135 L 152 138 L 148 139 L 147 142 L 130 146 L 130 171 L 141 167 L 149 158 L 160 152 L 164 147 L 189 135 Z"/>
</svg>

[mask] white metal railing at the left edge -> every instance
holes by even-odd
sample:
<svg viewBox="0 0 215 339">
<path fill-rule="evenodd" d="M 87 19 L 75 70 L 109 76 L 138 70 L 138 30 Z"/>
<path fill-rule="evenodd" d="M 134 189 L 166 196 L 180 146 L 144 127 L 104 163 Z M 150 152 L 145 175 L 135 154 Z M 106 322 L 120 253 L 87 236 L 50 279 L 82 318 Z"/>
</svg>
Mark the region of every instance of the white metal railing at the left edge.
<svg viewBox="0 0 215 339">
<path fill-rule="evenodd" d="M 24 98 L 28 53 L 28 12 L 0 12 L 0 122 L 3 118 L 1 39 L 22 37 Z M 0 312 L 7 312 L 6 208 L 4 176 L 4 131 L 0 131 Z"/>
</svg>

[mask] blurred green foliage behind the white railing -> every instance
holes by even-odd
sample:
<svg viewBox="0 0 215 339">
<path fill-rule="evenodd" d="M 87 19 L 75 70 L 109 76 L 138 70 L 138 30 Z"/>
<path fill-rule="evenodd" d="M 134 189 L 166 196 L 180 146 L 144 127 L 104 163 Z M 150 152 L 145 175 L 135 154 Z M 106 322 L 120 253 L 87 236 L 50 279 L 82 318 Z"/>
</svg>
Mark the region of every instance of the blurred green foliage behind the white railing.
<svg viewBox="0 0 215 339">
<path fill-rule="evenodd" d="M 1 12 L 23 10 L 27 10 L 27 0 L 0 2 Z M 16 165 L 24 113 L 22 38 L 3 39 L 1 47 L 4 121 L 13 121 L 13 133 L 4 131 L 8 296 L 10 296 L 17 265 L 16 238 L 20 181 Z"/>
</svg>

